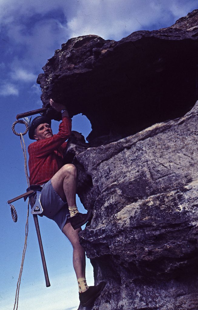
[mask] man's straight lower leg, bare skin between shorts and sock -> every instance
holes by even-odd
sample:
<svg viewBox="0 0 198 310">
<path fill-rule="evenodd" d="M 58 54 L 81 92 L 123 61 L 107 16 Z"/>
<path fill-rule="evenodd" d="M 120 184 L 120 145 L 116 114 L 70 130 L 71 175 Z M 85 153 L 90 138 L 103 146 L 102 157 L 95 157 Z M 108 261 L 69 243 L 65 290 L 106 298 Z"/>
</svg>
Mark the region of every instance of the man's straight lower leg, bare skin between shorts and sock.
<svg viewBox="0 0 198 310">
<path fill-rule="evenodd" d="M 81 228 L 74 230 L 69 221 L 62 230 L 73 246 L 73 266 L 77 279 L 85 278 L 85 251 L 79 243 L 79 231 Z"/>
</svg>

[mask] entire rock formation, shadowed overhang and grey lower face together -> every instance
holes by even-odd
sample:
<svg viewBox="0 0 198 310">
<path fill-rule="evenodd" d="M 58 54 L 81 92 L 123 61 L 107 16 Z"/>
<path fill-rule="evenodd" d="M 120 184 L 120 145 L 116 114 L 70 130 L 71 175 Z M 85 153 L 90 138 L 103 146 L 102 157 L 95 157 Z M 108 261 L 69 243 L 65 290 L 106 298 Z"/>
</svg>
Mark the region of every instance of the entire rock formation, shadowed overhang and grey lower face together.
<svg viewBox="0 0 198 310">
<path fill-rule="evenodd" d="M 70 39 L 38 77 L 44 106 L 52 97 L 92 123 L 90 143 L 65 154 L 93 210 L 80 242 L 106 281 L 87 310 L 198 309 L 197 19 Z"/>
</svg>

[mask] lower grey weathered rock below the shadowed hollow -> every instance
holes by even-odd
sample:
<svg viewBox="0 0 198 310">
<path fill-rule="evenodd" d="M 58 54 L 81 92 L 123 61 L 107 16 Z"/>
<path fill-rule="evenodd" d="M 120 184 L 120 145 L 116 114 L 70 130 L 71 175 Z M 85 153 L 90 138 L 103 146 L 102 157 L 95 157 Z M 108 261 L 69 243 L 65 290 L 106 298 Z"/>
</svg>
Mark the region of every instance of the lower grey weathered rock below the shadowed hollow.
<svg viewBox="0 0 198 310">
<path fill-rule="evenodd" d="M 198 309 L 197 123 L 198 101 L 184 117 L 117 142 L 68 146 L 94 214 L 80 241 L 96 283 L 107 282 L 87 309 Z"/>
</svg>

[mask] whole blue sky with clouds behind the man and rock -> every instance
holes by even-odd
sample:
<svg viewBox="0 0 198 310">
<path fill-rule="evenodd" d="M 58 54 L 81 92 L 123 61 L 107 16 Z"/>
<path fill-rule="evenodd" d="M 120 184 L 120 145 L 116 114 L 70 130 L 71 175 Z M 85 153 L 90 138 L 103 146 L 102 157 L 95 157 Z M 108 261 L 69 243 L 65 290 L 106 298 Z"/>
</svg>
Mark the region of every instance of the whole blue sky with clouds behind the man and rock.
<svg viewBox="0 0 198 310">
<path fill-rule="evenodd" d="M 1 271 L 0 309 L 13 309 L 25 237 L 27 204 L 14 203 L 18 221 L 11 219 L 7 200 L 26 190 L 20 138 L 11 131 L 16 114 L 42 107 L 36 78 L 47 59 L 69 38 L 97 34 L 120 40 L 133 31 L 170 26 L 198 8 L 195 0 L 0 0 L 0 102 L 1 102 Z M 54 121 L 53 131 L 58 123 Z M 73 130 L 87 136 L 86 117 L 73 118 Z M 16 131 L 25 131 L 17 125 Z M 30 143 L 25 136 L 26 146 Z M 80 210 L 83 207 L 80 206 Z M 69 241 L 55 223 L 40 219 L 43 246 L 51 287 L 45 287 L 38 241 L 29 217 L 28 248 L 21 280 L 18 309 L 74 310 L 78 287 L 72 267 Z M 87 262 L 88 285 L 93 285 L 92 267 Z"/>
</svg>

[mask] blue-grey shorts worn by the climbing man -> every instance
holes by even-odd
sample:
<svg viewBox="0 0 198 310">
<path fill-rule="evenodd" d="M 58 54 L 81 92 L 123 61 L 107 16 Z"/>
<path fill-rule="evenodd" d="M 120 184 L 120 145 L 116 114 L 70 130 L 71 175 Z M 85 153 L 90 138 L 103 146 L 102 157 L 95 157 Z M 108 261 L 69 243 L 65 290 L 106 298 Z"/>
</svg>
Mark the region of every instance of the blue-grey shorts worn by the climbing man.
<svg viewBox="0 0 198 310">
<path fill-rule="evenodd" d="M 53 219 L 58 227 L 63 230 L 66 220 L 70 218 L 67 202 L 63 201 L 56 193 L 51 180 L 43 184 L 42 187 L 40 201 L 43 207 L 43 215 Z"/>
</svg>

